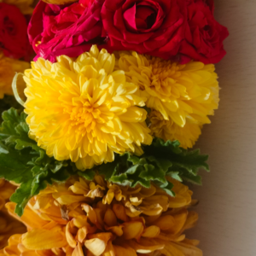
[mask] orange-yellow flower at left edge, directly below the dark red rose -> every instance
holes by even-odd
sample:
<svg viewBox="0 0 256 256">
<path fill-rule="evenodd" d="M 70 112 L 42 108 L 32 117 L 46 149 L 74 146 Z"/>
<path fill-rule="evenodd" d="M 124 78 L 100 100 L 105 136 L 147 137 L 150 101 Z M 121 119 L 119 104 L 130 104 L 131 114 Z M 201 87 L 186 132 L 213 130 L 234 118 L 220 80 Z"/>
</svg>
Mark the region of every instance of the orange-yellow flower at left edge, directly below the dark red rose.
<svg viewBox="0 0 256 256">
<path fill-rule="evenodd" d="M 5 94 L 13 95 L 12 81 L 15 73 L 23 73 L 30 64 L 26 61 L 10 59 L 0 53 L 0 99 Z"/>
</svg>

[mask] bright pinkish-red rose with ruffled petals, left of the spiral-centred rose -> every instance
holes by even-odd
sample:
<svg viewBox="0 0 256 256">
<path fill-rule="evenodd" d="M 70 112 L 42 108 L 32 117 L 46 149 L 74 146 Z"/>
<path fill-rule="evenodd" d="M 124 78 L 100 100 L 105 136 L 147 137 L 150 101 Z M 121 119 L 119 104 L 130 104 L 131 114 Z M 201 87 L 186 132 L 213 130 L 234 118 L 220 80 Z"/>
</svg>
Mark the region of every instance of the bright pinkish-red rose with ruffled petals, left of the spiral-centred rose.
<svg viewBox="0 0 256 256">
<path fill-rule="evenodd" d="M 54 62 L 58 55 L 76 57 L 92 44 L 102 44 L 101 2 L 79 0 L 69 5 L 39 2 L 28 27 L 37 57 Z"/>
</svg>

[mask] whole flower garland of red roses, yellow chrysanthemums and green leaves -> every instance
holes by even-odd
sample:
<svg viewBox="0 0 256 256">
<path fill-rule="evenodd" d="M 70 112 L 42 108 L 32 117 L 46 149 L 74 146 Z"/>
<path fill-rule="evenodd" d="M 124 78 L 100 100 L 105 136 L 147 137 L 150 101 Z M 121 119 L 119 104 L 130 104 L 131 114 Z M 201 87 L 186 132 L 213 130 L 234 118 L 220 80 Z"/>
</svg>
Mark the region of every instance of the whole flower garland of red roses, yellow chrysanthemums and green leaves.
<svg viewBox="0 0 256 256">
<path fill-rule="evenodd" d="M 22 105 L 0 125 L 0 256 L 201 256 L 183 181 L 209 171 L 188 148 L 218 109 L 213 1 L 31 6 L 0 3 L 0 97 Z"/>
</svg>

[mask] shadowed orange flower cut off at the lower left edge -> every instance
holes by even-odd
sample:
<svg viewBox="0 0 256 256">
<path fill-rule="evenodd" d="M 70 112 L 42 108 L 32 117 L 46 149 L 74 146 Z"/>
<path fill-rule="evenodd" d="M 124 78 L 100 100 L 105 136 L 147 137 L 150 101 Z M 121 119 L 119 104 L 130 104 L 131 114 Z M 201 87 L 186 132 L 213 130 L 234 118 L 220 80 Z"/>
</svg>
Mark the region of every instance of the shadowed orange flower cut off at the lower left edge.
<svg viewBox="0 0 256 256">
<path fill-rule="evenodd" d="M 26 232 L 25 226 L 12 218 L 4 207 L 14 192 L 15 186 L 0 178 L 0 249 L 7 246 L 10 236 Z"/>
</svg>

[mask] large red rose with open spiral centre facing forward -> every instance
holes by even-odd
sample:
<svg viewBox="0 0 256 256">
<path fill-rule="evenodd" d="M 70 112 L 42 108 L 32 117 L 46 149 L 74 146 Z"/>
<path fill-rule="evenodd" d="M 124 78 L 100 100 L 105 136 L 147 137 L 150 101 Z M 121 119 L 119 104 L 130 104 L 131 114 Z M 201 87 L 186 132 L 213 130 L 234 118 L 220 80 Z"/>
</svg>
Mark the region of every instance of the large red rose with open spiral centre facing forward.
<svg viewBox="0 0 256 256">
<path fill-rule="evenodd" d="M 131 49 L 169 59 L 184 38 L 183 0 L 105 0 L 102 23 L 108 50 Z"/>
</svg>

